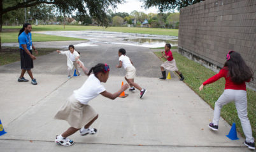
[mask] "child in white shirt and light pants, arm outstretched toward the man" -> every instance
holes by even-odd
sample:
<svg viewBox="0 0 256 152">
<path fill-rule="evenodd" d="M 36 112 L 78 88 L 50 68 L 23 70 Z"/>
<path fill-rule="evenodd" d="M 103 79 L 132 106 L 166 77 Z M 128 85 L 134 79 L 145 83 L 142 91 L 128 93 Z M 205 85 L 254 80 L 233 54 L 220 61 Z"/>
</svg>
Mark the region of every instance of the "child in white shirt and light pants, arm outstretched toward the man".
<svg viewBox="0 0 256 152">
<path fill-rule="evenodd" d="M 65 54 L 67 56 L 67 65 L 68 65 L 68 78 L 71 78 L 71 72 L 73 70 L 73 67 L 75 66 L 76 72 L 78 73 L 78 76 L 80 76 L 80 72 L 77 67 L 76 60 L 80 61 L 80 53 L 78 53 L 75 50 L 75 47 L 73 45 L 69 45 L 69 51 L 59 51 L 57 50 L 57 53 L 59 54 Z M 80 61 L 81 62 L 81 61 Z"/>
</svg>

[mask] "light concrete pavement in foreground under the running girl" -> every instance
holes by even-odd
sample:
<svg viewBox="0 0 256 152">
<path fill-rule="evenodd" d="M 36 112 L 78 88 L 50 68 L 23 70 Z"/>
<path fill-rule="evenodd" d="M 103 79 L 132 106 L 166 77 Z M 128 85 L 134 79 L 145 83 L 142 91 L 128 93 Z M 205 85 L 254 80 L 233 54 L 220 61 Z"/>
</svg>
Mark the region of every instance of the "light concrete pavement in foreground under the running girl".
<svg viewBox="0 0 256 152">
<path fill-rule="evenodd" d="M 16 75 L 1 73 L 0 76 L 12 79 Z M 29 82 L 11 82 L 17 87 L 7 87 L 10 80 L 1 82 L 1 86 L 6 86 L 1 87 L 0 93 L 6 96 L 4 101 L 1 99 L 1 119 L 8 132 L 0 137 L 3 151 L 78 151 L 81 148 L 88 151 L 247 151 L 243 137 L 239 136 L 238 141 L 225 137 L 231 126 L 224 120 L 220 120 L 218 132 L 208 129 L 213 110 L 183 82 L 146 77 L 136 79 L 148 89 L 145 98 L 139 99 L 139 91 L 127 92 L 127 98 L 113 101 L 99 95 L 90 101 L 99 113 L 92 127 L 99 132 L 85 137 L 76 133 L 70 137 L 76 143 L 74 146 L 58 146 L 53 142 L 55 135 L 69 125 L 53 117 L 87 77 L 69 80 L 66 75 L 38 77 L 43 78 L 47 78 L 45 82 L 36 86 Z M 123 80 L 113 76 L 104 86 L 107 91 L 115 92 Z M 51 87 L 46 82 L 52 84 Z M 21 96 L 18 93 L 21 87 L 30 95 Z"/>
</svg>

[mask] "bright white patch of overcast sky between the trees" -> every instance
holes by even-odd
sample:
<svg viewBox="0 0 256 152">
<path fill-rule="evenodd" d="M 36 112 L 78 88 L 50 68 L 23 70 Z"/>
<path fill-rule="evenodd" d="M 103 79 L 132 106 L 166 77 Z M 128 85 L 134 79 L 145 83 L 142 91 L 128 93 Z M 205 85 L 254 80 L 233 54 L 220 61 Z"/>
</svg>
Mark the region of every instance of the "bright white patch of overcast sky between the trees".
<svg viewBox="0 0 256 152">
<path fill-rule="evenodd" d="M 132 11 L 143 11 L 144 13 L 157 13 L 158 9 L 153 7 L 149 9 L 141 8 L 142 2 L 139 0 L 126 0 L 124 4 L 118 4 L 117 9 L 113 10 L 113 12 L 127 12 L 131 13 Z"/>
</svg>

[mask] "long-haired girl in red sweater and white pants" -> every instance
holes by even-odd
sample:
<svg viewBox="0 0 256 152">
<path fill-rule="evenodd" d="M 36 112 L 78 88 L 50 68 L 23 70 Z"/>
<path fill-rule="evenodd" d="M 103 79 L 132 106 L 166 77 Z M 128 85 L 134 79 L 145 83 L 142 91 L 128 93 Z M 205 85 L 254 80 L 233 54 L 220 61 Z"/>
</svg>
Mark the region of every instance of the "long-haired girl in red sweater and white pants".
<svg viewBox="0 0 256 152">
<path fill-rule="evenodd" d="M 208 126 L 212 130 L 218 130 L 218 121 L 220 120 L 220 111 L 222 106 L 235 102 L 238 117 L 245 133 L 245 145 L 250 149 L 255 149 L 254 139 L 252 137 L 252 127 L 247 117 L 247 97 L 246 84 L 253 79 L 252 69 L 246 65 L 241 55 L 235 51 L 229 51 L 227 61 L 219 73 L 206 80 L 200 87 L 201 91 L 204 85 L 211 84 L 218 79 L 225 78 L 225 91 L 215 103 L 213 122 Z"/>
</svg>

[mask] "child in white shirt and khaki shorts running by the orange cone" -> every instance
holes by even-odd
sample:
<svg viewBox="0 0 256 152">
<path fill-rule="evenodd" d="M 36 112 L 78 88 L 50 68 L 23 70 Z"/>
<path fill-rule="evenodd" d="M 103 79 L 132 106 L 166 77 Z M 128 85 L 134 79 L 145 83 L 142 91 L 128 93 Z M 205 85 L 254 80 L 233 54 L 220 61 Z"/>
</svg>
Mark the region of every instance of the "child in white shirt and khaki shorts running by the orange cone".
<svg viewBox="0 0 256 152">
<path fill-rule="evenodd" d="M 133 66 L 133 63 L 131 59 L 125 55 L 126 51 L 125 49 L 121 48 L 118 51 L 118 56 L 119 56 L 119 65 L 117 65 L 117 68 L 122 68 L 124 66 L 124 69 L 126 71 L 125 74 L 125 80 L 128 82 L 130 85 L 129 91 L 135 92 L 135 88 L 138 89 L 140 93 L 140 98 L 143 98 L 143 96 L 146 93 L 146 89 L 141 88 L 138 84 L 134 83 L 134 78 L 136 75 L 136 68 Z"/>
</svg>

